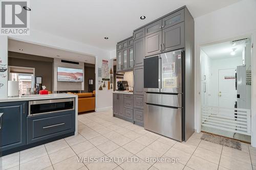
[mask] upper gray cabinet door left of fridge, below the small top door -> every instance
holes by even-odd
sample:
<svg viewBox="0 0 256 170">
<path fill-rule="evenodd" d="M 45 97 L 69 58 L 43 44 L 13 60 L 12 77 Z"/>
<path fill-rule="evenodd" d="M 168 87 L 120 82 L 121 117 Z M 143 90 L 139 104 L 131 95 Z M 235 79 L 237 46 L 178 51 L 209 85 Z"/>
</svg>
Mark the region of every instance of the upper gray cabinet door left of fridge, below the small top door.
<svg viewBox="0 0 256 170">
<path fill-rule="evenodd" d="M 134 67 L 143 66 L 145 45 L 144 37 L 133 41 Z"/>
</svg>

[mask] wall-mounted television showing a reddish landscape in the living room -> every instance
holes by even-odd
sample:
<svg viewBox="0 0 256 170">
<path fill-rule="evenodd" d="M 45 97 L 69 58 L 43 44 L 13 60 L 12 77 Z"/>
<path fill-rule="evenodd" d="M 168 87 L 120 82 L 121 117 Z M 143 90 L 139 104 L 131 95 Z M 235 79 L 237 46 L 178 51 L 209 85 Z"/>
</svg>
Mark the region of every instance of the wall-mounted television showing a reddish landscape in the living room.
<svg viewBox="0 0 256 170">
<path fill-rule="evenodd" d="M 83 69 L 58 67 L 58 82 L 83 82 Z"/>
</svg>

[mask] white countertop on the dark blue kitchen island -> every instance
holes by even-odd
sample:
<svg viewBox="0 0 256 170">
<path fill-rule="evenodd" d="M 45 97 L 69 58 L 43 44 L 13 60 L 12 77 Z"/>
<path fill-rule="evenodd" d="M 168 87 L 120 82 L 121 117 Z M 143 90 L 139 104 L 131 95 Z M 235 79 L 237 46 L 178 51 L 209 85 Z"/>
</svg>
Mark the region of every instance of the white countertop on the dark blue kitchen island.
<svg viewBox="0 0 256 170">
<path fill-rule="evenodd" d="M 55 93 L 48 95 L 30 95 L 0 98 L 0 102 L 15 102 L 15 101 L 35 101 L 35 100 L 49 100 L 49 99 L 63 99 L 63 98 L 77 98 L 77 95 L 67 93 Z"/>
</svg>

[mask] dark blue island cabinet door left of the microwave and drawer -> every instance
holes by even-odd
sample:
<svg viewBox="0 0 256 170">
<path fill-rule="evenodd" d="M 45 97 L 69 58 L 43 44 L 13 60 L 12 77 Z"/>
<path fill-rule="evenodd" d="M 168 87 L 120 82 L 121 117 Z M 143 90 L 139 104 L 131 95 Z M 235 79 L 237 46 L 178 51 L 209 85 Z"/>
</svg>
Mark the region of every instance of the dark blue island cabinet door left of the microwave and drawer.
<svg viewBox="0 0 256 170">
<path fill-rule="evenodd" d="M 27 102 L 0 103 L 0 156 L 2 152 L 26 145 Z"/>
</svg>

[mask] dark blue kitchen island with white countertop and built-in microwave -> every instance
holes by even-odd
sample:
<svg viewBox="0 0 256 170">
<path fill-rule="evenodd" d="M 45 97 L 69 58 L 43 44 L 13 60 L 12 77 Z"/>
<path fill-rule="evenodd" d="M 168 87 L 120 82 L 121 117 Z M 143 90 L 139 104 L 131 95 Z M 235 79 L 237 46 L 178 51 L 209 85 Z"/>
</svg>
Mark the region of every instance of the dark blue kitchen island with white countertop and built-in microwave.
<svg viewBox="0 0 256 170">
<path fill-rule="evenodd" d="M 77 95 L 0 98 L 0 157 L 77 134 Z"/>
</svg>

